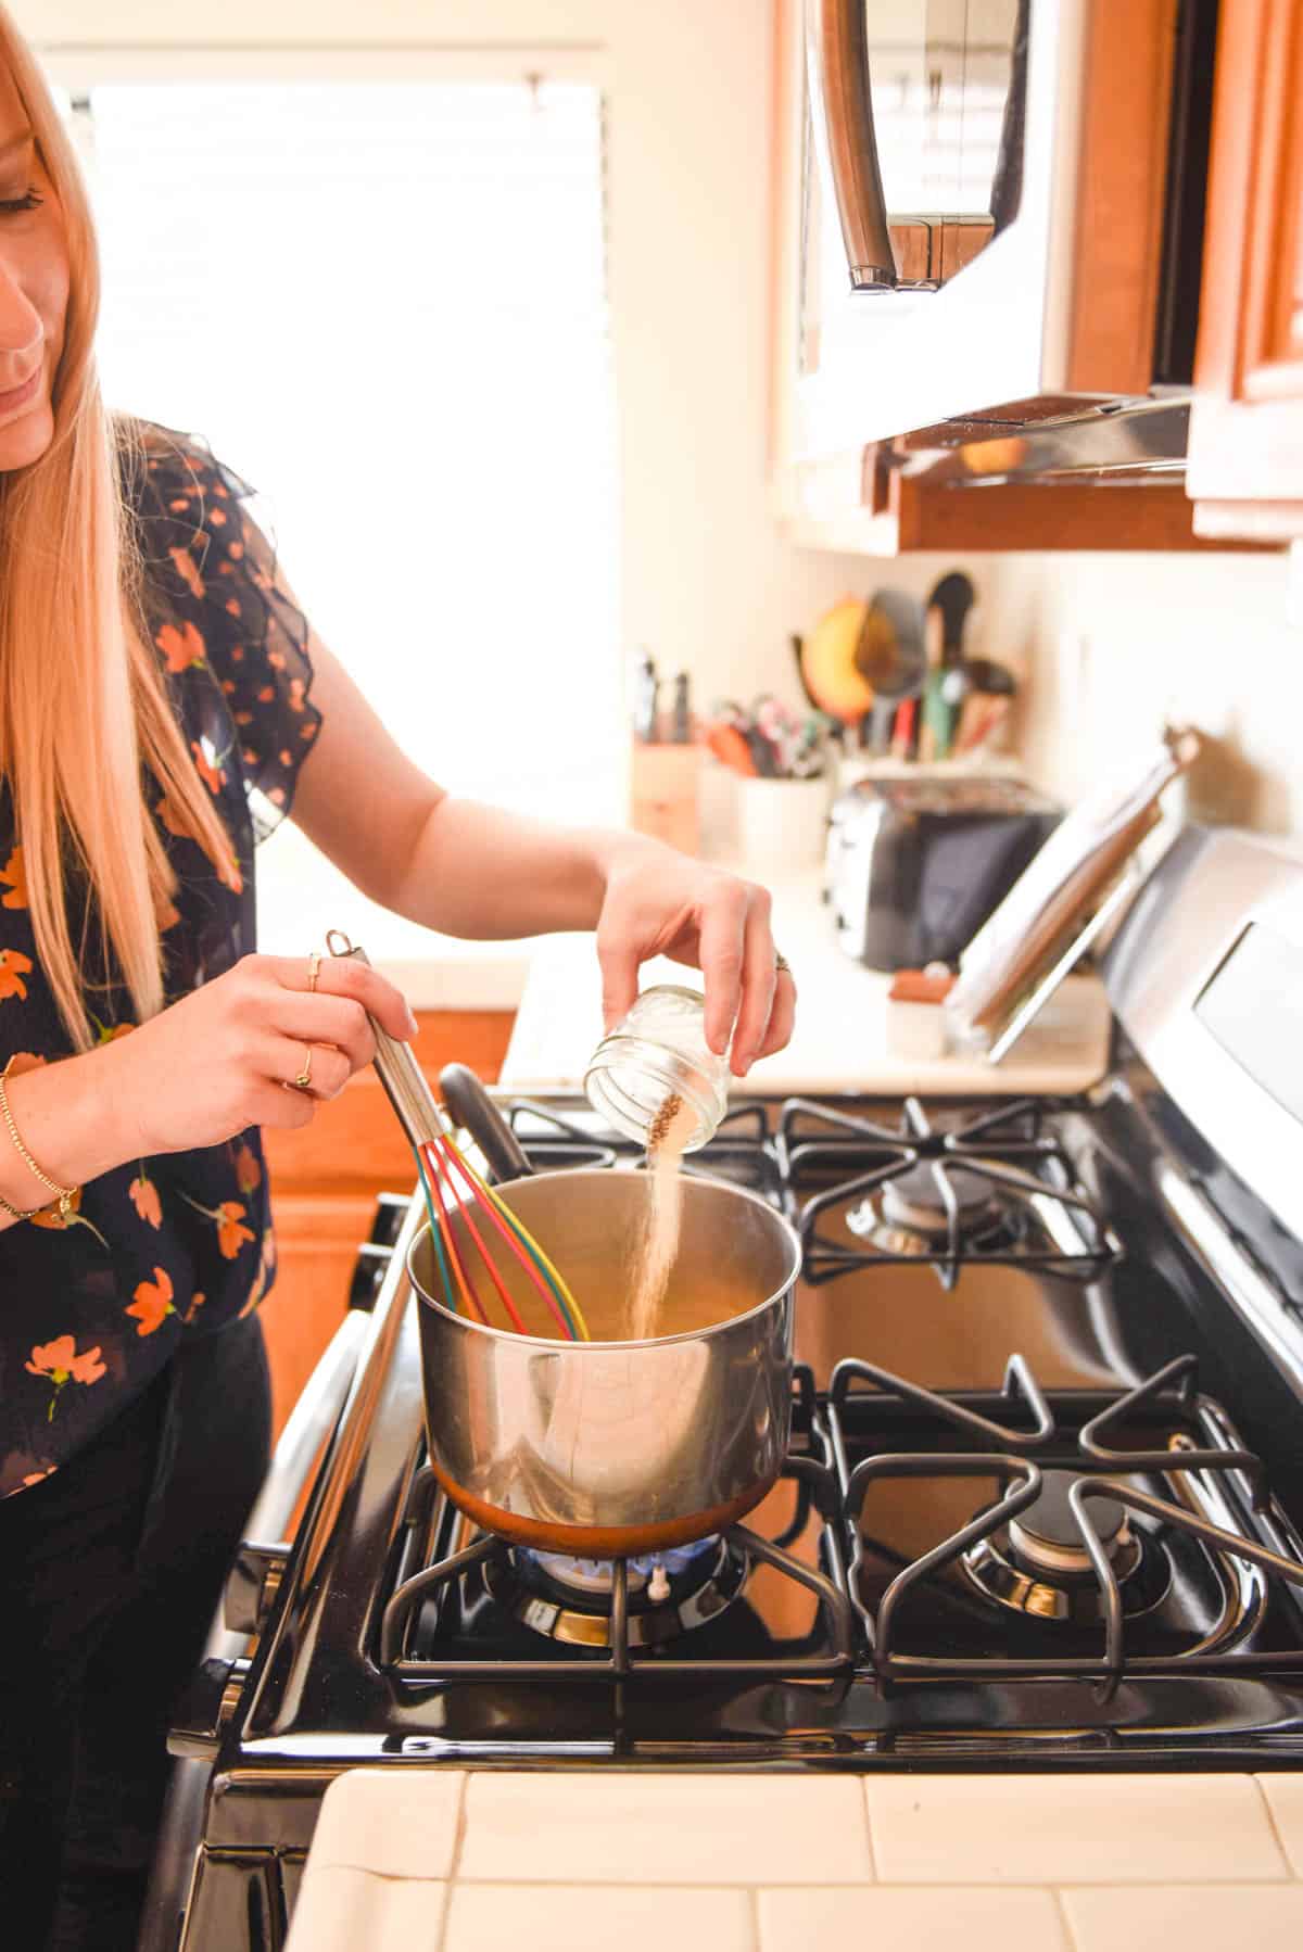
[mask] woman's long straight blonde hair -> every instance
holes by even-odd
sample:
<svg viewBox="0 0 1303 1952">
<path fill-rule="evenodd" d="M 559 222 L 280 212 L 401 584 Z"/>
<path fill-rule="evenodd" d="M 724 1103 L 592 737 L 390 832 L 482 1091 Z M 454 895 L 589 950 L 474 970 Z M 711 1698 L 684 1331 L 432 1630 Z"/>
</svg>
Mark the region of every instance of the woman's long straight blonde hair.
<svg viewBox="0 0 1303 1952">
<path fill-rule="evenodd" d="M 164 999 L 160 919 L 176 876 L 143 769 L 215 865 L 229 867 L 232 849 L 141 623 L 117 453 L 131 429 L 109 420 L 94 365 L 100 265 L 90 203 L 49 88 L 4 6 L 0 61 L 63 211 L 70 275 L 53 439 L 39 461 L 0 474 L 0 775 L 41 968 L 74 1048 L 86 1050 L 96 1040 L 86 990 L 109 982 L 109 953 L 139 1021 Z M 76 943 L 72 890 L 86 902 Z"/>
</svg>

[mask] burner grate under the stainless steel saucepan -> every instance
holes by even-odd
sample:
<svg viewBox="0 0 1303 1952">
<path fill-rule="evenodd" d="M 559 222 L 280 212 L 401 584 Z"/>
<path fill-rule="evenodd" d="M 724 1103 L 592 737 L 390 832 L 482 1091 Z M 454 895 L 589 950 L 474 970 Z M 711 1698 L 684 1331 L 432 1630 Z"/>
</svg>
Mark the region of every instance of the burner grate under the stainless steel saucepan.
<svg viewBox="0 0 1303 1952">
<path fill-rule="evenodd" d="M 815 1415 L 815 1378 L 797 1366 L 793 1400 L 793 1448 L 787 1452 L 779 1482 L 795 1487 L 795 1509 L 776 1538 L 762 1538 L 746 1525 L 735 1525 L 721 1534 L 723 1552 L 740 1566 L 768 1566 L 783 1579 L 811 1593 L 819 1610 L 819 1632 L 813 1647 L 774 1647 L 733 1659 L 692 1655 L 692 1630 L 682 1636 L 688 1649 L 682 1657 L 666 1655 L 660 1646 L 637 1647 L 631 1634 L 629 1562 L 611 1560 L 609 1599 L 598 1599 L 594 1616 L 604 1620 L 606 1646 L 547 1659 L 520 1659 L 494 1653 L 492 1659 L 465 1657 L 461 1647 L 441 1651 L 443 1636 L 436 1626 L 428 1649 L 412 1647 L 414 1622 L 430 1601 L 436 1618 L 443 1601 L 451 1601 L 465 1575 L 481 1575 L 488 1589 L 512 1581 L 510 1548 L 502 1538 L 483 1532 L 469 1546 L 440 1558 L 420 1571 L 406 1571 L 416 1542 L 430 1536 L 436 1501 L 443 1497 L 432 1468 L 422 1466 L 408 1491 L 402 1526 L 406 1544 L 400 1550 L 400 1577 L 385 1605 L 379 1630 L 381 1667 L 399 1681 L 606 1681 L 606 1683 L 709 1683 L 727 1681 L 815 1681 L 834 1679 L 852 1667 L 854 1614 L 846 1591 L 846 1564 L 840 1552 L 840 1499 L 828 1439 Z M 793 1558 L 785 1548 L 805 1532 L 811 1517 L 822 1521 L 822 1558 L 826 1571 L 817 1571 Z M 674 1642 L 672 1642 L 674 1644 Z"/>
</svg>

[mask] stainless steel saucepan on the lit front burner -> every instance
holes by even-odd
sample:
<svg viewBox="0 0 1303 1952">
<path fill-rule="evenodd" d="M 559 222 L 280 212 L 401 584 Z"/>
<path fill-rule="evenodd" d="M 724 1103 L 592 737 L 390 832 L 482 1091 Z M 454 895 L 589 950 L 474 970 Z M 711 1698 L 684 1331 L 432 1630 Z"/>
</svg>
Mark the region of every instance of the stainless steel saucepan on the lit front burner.
<svg viewBox="0 0 1303 1952">
<path fill-rule="evenodd" d="M 473 1136 L 484 1128 L 475 1113 Z M 733 1525 L 770 1489 L 787 1444 L 793 1228 L 754 1193 L 686 1177 L 670 1333 L 629 1343 L 615 1337 L 647 1214 L 643 1175 L 582 1167 L 494 1191 L 565 1261 L 594 1339 L 543 1341 L 453 1314 L 430 1228 L 418 1234 L 408 1273 L 426 1433 L 451 1501 L 516 1544 L 604 1560 Z M 508 1284 L 518 1277 L 506 1269 Z"/>
</svg>

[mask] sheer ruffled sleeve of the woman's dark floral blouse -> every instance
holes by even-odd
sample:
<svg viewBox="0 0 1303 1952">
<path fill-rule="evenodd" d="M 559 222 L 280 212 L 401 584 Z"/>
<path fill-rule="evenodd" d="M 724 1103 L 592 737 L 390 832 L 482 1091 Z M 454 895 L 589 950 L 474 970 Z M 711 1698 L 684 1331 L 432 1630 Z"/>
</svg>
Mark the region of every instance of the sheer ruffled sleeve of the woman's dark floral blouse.
<svg viewBox="0 0 1303 1952">
<path fill-rule="evenodd" d="M 266 839 L 291 808 L 299 765 L 320 728 L 309 697 L 313 632 L 248 508 L 254 490 L 201 441 L 168 439 L 174 445 L 154 486 L 170 517 L 174 591 L 227 697 L 254 834 Z"/>
</svg>

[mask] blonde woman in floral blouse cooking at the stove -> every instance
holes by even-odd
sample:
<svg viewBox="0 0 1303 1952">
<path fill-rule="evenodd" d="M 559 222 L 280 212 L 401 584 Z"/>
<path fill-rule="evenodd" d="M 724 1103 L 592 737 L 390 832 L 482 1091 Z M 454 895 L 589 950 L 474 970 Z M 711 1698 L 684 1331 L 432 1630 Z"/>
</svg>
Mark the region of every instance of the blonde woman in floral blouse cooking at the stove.
<svg viewBox="0 0 1303 1952">
<path fill-rule="evenodd" d="M 2 12 L 0 57 L 0 1899 L 6 1944 L 131 1946 L 168 1704 L 266 1460 L 260 1128 L 369 1062 L 367 1013 L 410 1033 L 379 974 L 252 953 L 254 841 L 293 810 L 414 921 L 596 929 L 608 1023 L 643 958 L 695 962 L 738 1076 L 793 992 L 760 888 L 449 798 L 242 482 L 107 422 L 84 193 Z"/>
</svg>

